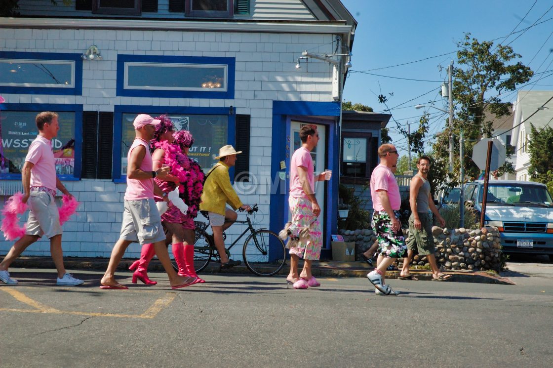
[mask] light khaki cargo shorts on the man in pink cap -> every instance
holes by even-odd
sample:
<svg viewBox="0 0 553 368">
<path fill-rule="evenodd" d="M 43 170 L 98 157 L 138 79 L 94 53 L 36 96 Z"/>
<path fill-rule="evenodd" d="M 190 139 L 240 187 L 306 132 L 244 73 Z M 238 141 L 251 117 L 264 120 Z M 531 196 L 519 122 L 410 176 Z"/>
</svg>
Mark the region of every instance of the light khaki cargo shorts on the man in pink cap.
<svg viewBox="0 0 553 368">
<path fill-rule="evenodd" d="M 165 240 L 161 216 L 153 199 L 125 200 L 119 239 L 141 245 Z"/>
</svg>

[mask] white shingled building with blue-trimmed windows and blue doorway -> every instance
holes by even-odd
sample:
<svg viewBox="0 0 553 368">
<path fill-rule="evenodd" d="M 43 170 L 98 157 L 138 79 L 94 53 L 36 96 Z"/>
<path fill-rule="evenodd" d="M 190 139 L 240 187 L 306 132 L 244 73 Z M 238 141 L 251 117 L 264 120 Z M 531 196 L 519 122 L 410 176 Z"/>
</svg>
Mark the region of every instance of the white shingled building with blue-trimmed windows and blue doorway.
<svg viewBox="0 0 553 368">
<path fill-rule="evenodd" d="M 317 189 L 324 252 L 330 250 L 340 101 L 357 25 L 340 1 L 76 0 L 54 6 L 20 0 L 18 11 L 0 18 L 0 95 L 6 100 L 0 105 L 0 196 L 21 190 L 36 113 L 58 112 L 56 169 L 81 202 L 64 224 L 66 256 L 111 253 L 138 113 L 166 113 L 190 130 L 191 155 L 204 169 L 225 144 L 244 151 L 231 173 L 234 186 L 244 203 L 259 204 L 257 226 L 277 232 L 288 220 L 289 160 L 299 129 L 315 123 L 322 138 L 316 170 L 336 173 Z M 300 59 L 306 50 L 327 61 Z M 238 225 L 229 230 L 230 240 L 242 232 Z M 0 235 L 0 253 L 11 245 Z M 49 250 L 39 241 L 25 254 Z M 133 244 L 126 256 L 139 251 Z"/>
</svg>

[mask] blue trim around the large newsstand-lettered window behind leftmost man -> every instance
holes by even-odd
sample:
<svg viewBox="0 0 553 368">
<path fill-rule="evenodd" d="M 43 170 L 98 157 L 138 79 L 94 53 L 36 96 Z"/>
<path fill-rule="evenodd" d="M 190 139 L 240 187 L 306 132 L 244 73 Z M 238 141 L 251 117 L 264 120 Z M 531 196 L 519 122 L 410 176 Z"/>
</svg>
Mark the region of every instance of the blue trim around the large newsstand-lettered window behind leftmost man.
<svg viewBox="0 0 553 368">
<path fill-rule="evenodd" d="M 75 168 L 73 175 L 60 175 L 60 180 L 78 181 L 82 163 L 82 105 L 58 103 L 2 103 L 2 111 L 54 111 L 75 112 Z M 60 127 L 63 129 L 64 127 Z M 21 180 L 21 174 L 0 174 L 0 180 Z"/>
</svg>

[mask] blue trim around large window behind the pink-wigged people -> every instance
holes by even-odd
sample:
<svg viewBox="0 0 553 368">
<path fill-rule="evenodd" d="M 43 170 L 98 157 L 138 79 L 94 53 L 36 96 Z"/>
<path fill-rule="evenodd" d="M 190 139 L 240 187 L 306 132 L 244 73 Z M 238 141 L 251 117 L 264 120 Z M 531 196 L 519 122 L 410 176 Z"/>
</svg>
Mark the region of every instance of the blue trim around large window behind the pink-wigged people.
<svg viewBox="0 0 553 368">
<path fill-rule="evenodd" d="M 178 107 L 178 106 L 135 106 L 116 105 L 113 113 L 113 172 L 114 183 L 127 183 L 127 175 L 121 175 L 121 139 L 123 137 L 123 113 L 156 114 L 163 111 L 167 114 L 191 115 L 228 115 L 228 107 Z M 227 144 L 235 144 L 236 115 L 228 115 Z M 234 168 L 229 170 L 231 182 L 234 183 Z"/>
</svg>

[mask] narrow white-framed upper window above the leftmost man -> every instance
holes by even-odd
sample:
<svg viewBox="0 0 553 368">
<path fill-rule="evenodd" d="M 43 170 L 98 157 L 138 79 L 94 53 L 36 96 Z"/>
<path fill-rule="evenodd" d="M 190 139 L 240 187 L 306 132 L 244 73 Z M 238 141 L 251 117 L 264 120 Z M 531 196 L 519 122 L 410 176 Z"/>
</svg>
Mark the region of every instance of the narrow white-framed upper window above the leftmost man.
<svg viewBox="0 0 553 368">
<path fill-rule="evenodd" d="M 0 85 L 74 88 L 74 61 L 0 59 Z"/>
</svg>

